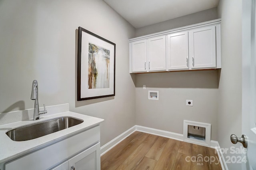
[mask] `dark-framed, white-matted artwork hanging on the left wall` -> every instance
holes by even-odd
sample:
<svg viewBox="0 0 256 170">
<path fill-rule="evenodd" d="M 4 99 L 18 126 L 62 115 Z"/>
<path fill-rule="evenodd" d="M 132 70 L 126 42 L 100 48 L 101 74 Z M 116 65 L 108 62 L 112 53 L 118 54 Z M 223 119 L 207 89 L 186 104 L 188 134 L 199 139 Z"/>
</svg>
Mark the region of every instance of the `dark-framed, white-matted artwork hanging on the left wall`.
<svg viewBox="0 0 256 170">
<path fill-rule="evenodd" d="M 77 100 L 115 96 L 116 44 L 78 27 Z"/>
</svg>

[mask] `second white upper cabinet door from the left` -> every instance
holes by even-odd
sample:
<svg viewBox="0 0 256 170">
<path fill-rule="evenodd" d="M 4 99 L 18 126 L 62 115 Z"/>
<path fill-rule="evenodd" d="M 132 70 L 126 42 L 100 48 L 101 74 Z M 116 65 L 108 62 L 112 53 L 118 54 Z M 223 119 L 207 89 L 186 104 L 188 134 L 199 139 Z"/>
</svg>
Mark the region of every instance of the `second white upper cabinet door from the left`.
<svg viewBox="0 0 256 170">
<path fill-rule="evenodd" d="M 148 71 L 166 70 L 165 36 L 150 38 L 148 47 Z"/>
</svg>

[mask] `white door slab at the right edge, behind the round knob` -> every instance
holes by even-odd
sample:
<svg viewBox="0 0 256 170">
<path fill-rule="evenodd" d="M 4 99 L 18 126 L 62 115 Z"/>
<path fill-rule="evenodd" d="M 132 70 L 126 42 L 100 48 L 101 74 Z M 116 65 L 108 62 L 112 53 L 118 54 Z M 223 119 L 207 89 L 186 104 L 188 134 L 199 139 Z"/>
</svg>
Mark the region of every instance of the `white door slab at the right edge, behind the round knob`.
<svg viewBox="0 0 256 170">
<path fill-rule="evenodd" d="M 255 0 L 242 8 L 242 133 L 247 138 L 247 163 L 242 170 L 256 170 L 256 22 Z M 238 136 L 240 137 L 240 136 Z"/>
</svg>

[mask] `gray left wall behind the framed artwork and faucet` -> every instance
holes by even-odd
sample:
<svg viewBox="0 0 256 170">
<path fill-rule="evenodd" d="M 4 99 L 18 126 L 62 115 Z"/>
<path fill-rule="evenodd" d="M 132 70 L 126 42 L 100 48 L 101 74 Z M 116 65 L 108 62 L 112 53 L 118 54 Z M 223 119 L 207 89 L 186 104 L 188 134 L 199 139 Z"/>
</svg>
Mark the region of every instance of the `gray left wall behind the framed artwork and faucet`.
<svg viewBox="0 0 256 170">
<path fill-rule="evenodd" d="M 70 103 L 70 110 L 105 119 L 101 145 L 135 125 L 135 86 L 128 39 L 134 28 L 102 0 L 0 1 L 0 113 L 39 104 Z M 116 96 L 76 102 L 77 39 L 81 26 L 116 43 Z"/>
</svg>

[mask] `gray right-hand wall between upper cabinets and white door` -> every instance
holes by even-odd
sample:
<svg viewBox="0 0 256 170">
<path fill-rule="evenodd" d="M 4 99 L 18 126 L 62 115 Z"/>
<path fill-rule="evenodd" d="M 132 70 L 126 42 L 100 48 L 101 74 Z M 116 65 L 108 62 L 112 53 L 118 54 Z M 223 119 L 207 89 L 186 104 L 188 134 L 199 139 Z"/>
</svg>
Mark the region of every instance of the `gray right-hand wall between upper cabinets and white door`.
<svg viewBox="0 0 256 170">
<path fill-rule="evenodd" d="M 220 0 L 218 14 L 222 18 L 218 142 L 221 148 L 239 148 L 241 145 L 230 142 L 230 135 L 242 136 L 242 0 Z M 229 151 L 224 157 L 227 155 L 231 155 Z M 242 169 L 241 164 L 228 164 L 228 168 Z"/>
</svg>

